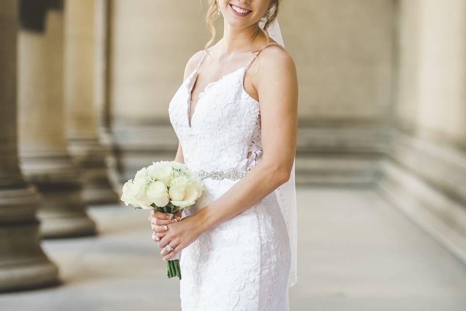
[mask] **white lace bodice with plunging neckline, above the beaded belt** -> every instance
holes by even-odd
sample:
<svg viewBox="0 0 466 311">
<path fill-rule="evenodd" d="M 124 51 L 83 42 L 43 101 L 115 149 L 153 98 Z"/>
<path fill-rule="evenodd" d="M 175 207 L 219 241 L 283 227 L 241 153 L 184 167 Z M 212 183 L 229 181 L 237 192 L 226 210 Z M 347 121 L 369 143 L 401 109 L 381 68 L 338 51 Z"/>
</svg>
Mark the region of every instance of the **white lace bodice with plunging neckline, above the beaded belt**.
<svg viewBox="0 0 466 311">
<path fill-rule="evenodd" d="M 270 44 L 260 51 L 267 46 Z M 206 55 L 204 52 L 168 107 L 170 122 L 183 147 L 184 163 L 193 171 L 247 172 L 262 158 L 259 102 L 243 85 L 255 56 L 245 66 L 209 83 L 200 92 L 189 122 L 191 92 Z"/>
</svg>

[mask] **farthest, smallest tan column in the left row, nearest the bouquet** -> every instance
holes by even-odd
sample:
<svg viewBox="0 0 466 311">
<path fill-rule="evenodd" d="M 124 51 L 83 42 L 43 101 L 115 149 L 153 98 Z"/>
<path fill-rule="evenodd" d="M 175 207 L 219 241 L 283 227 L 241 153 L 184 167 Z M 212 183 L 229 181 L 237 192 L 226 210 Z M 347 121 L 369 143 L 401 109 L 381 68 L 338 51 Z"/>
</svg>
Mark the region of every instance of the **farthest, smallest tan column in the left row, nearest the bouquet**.
<svg viewBox="0 0 466 311">
<path fill-rule="evenodd" d="M 71 155 L 83 170 L 87 204 L 118 202 L 108 179 L 104 148 L 97 132 L 95 103 L 94 0 L 65 1 L 65 106 Z"/>
</svg>

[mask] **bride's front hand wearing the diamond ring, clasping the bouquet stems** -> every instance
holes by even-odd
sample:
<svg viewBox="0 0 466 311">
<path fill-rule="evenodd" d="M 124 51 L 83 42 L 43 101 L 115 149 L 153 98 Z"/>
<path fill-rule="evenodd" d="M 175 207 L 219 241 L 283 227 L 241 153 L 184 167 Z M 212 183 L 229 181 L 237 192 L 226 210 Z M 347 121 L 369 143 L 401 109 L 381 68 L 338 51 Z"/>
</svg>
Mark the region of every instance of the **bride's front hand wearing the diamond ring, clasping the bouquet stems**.
<svg viewBox="0 0 466 311">
<path fill-rule="evenodd" d="M 164 237 L 159 242 L 159 247 L 162 248 L 160 254 L 164 256 L 164 260 L 169 260 L 183 248 L 196 241 L 202 233 L 199 221 L 195 215 L 186 216 L 183 221 L 167 225 L 168 230 L 164 232 Z M 170 243 L 175 249 L 168 252 L 166 245 Z"/>
</svg>

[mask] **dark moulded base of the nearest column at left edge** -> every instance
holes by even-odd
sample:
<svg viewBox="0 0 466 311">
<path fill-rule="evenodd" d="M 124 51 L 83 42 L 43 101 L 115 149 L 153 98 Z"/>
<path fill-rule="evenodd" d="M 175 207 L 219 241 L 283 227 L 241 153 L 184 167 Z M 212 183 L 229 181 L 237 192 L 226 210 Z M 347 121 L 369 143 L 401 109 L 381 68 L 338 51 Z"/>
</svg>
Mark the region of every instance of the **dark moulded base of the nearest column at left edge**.
<svg viewBox="0 0 466 311">
<path fill-rule="evenodd" d="M 32 186 L 0 190 L 0 292 L 54 285 L 58 268 L 40 247 Z"/>
</svg>

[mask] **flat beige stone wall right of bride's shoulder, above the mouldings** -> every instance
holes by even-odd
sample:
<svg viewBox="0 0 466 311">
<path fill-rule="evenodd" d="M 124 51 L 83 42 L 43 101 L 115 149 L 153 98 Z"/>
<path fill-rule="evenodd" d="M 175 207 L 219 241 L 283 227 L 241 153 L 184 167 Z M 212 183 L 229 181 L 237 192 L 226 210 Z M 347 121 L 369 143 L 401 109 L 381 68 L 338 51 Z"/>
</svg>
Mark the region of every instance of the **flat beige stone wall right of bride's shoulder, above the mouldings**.
<svg viewBox="0 0 466 311">
<path fill-rule="evenodd" d="M 387 122 L 394 1 L 284 1 L 283 40 L 298 68 L 302 121 Z"/>
</svg>

